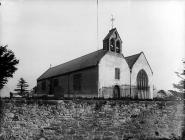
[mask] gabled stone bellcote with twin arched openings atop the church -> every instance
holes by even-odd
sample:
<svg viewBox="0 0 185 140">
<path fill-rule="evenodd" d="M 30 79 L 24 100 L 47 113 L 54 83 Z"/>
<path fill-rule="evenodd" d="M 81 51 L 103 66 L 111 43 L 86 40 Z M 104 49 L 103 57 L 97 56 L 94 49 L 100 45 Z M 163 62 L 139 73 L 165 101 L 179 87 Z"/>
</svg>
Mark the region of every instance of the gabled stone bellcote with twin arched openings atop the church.
<svg viewBox="0 0 185 140">
<path fill-rule="evenodd" d="M 122 53 L 122 40 L 116 28 L 109 30 L 109 33 L 103 39 L 103 50 Z"/>
</svg>

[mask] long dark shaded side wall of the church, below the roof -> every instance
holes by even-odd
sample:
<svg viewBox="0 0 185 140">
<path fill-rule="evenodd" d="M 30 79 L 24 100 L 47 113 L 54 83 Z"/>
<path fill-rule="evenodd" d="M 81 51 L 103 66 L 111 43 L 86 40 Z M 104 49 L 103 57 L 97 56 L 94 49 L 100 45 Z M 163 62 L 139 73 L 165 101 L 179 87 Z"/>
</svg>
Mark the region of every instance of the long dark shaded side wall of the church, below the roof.
<svg viewBox="0 0 185 140">
<path fill-rule="evenodd" d="M 74 76 L 81 75 L 80 89 L 74 89 Z M 53 86 L 54 80 L 58 81 L 57 86 Z M 42 82 L 46 82 L 45 90 L 42 89 Z M 52 82 L 52 83 L 51 83 Z M 79 83 L 76 83 L 79 84 Z M 52 85 L 52 87 L 51 87 Z M 52 88 L 52 89 L 51 89 Z M 75 71 L 58 77 L 37 82 L 38 94 L 51 94 L 55 97 L 97 97 L 98 96 L 98 68 L 91 67 L 84 70 Z"/>
</svg>

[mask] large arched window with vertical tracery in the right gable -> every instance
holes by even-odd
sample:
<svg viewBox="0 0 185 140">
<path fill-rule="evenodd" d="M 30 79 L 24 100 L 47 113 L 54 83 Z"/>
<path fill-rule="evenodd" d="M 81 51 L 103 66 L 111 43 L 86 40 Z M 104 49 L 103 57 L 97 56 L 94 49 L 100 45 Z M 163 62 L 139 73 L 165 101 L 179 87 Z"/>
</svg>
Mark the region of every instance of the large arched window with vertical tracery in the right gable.
<svg viewBox="0 0 185 140">
<path fill-rule="evenodd" d="M 148 76 L 144 70 L 140 70 L 137 75 L 137 89 L 138 90 L 148 89 Z"/>
</svg>

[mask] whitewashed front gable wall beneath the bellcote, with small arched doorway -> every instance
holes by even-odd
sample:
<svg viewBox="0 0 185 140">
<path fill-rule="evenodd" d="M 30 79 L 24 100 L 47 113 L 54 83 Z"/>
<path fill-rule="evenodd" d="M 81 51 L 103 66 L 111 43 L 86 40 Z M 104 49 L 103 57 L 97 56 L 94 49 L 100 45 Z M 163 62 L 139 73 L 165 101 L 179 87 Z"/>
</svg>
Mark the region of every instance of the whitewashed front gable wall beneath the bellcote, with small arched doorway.
<svg viewBox="0 0 185 140">
<path fill-rule="evenodd" d="M 115 79 L 115 68 L 120 69 L 120 79 Z M 117 85 L 120 96 L 129 96 L 129 67 L 121 54 L 108 52 L 99 62 L 99 97 L 112 98 Z"/>
</svg>

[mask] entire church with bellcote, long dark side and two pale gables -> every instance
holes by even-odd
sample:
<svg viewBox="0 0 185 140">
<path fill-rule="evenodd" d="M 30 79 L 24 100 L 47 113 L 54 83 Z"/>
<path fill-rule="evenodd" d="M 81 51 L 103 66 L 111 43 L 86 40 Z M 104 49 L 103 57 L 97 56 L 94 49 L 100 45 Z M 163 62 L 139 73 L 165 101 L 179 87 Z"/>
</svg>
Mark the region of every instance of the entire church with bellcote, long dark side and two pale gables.
<svg viewBox="0 0 185 140">
<path fill-rule="evenodd" d="M 153 71 L 143 52 L 125 57 L 116 28 L 103 49 L 51 67 L 37 79 L 37 94 L 84 98 L 153 98 Z"/>
</svg>

